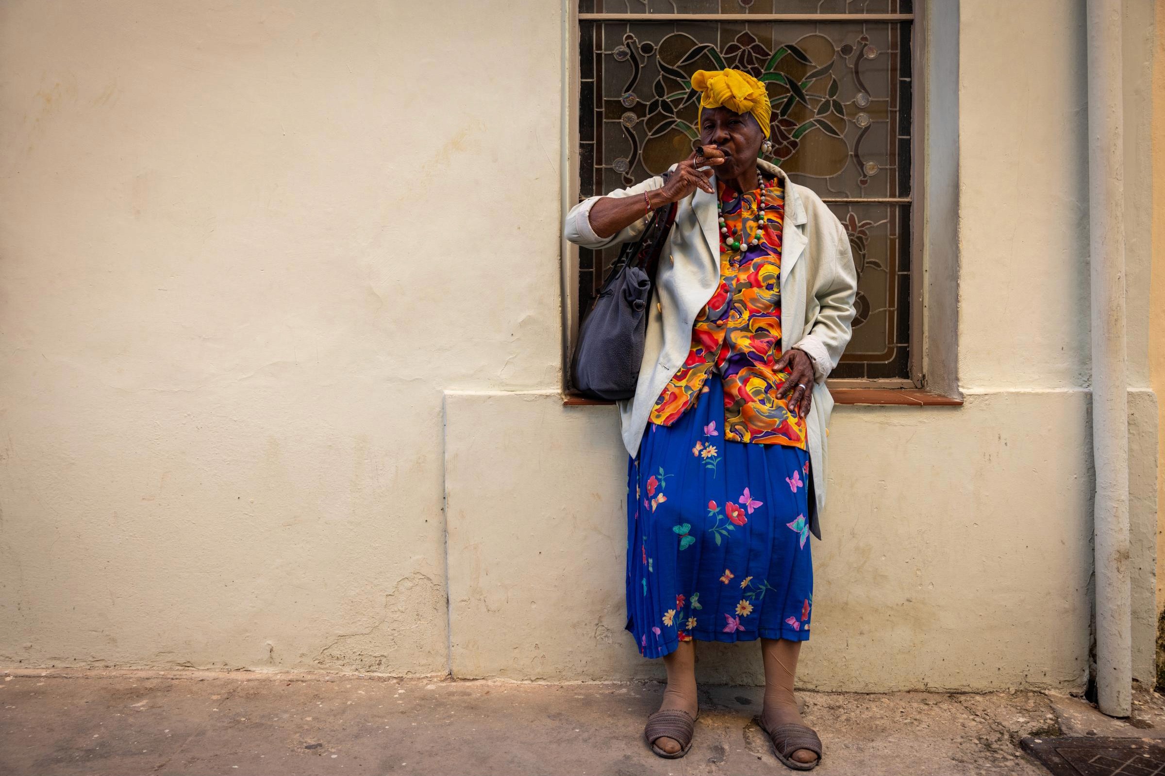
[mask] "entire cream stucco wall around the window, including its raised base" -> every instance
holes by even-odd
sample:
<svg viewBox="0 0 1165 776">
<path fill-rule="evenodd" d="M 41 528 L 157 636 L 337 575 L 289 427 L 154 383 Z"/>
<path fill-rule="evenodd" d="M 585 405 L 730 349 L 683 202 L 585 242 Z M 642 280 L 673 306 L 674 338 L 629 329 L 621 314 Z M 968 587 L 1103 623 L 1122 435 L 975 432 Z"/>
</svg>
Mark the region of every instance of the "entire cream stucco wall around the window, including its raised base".
<svg viewBox="0 0 1165 776">
<path fill-rule="evenodd" d="M 838 410 L 807 684 L 1083 681 L 1081 8 L 962 3 L 967 404 Z M 0 661 L 658 672 L 621 631 L 614 412 L 557 399 L 563 29 L 551 2 L 0 6 Z"/>
</svg>

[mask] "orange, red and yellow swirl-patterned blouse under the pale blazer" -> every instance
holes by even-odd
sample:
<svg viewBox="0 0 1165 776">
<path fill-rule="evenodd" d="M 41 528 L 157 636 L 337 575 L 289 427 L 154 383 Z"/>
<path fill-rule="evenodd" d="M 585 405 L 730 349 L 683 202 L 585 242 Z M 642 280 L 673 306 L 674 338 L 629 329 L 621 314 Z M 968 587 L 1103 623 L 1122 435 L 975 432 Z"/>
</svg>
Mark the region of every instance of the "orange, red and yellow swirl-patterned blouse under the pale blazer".
<svg viewBox="0 0 1165 776">
<path fill-rule="evenodd" d="M 764 192 L 761 244 L 756 200 Z M 684 365 L 664 387 L 650 420 L 671 426 L 706 392 L 709 375 L 723 379 L 725 439 L 734 442 L 805 447 L 805 419 L 789 412 L 777 387 L 789 375 L 774 369 L 781 358 L 781 230 L 784 192 L 779 184 L 746 194 L 718 181 L 721 215 L 740 248 L 720 248 L 720 286 L 697 315 Z M 741 228 L 743 225 L 743 232 Z"/>
</svg>

